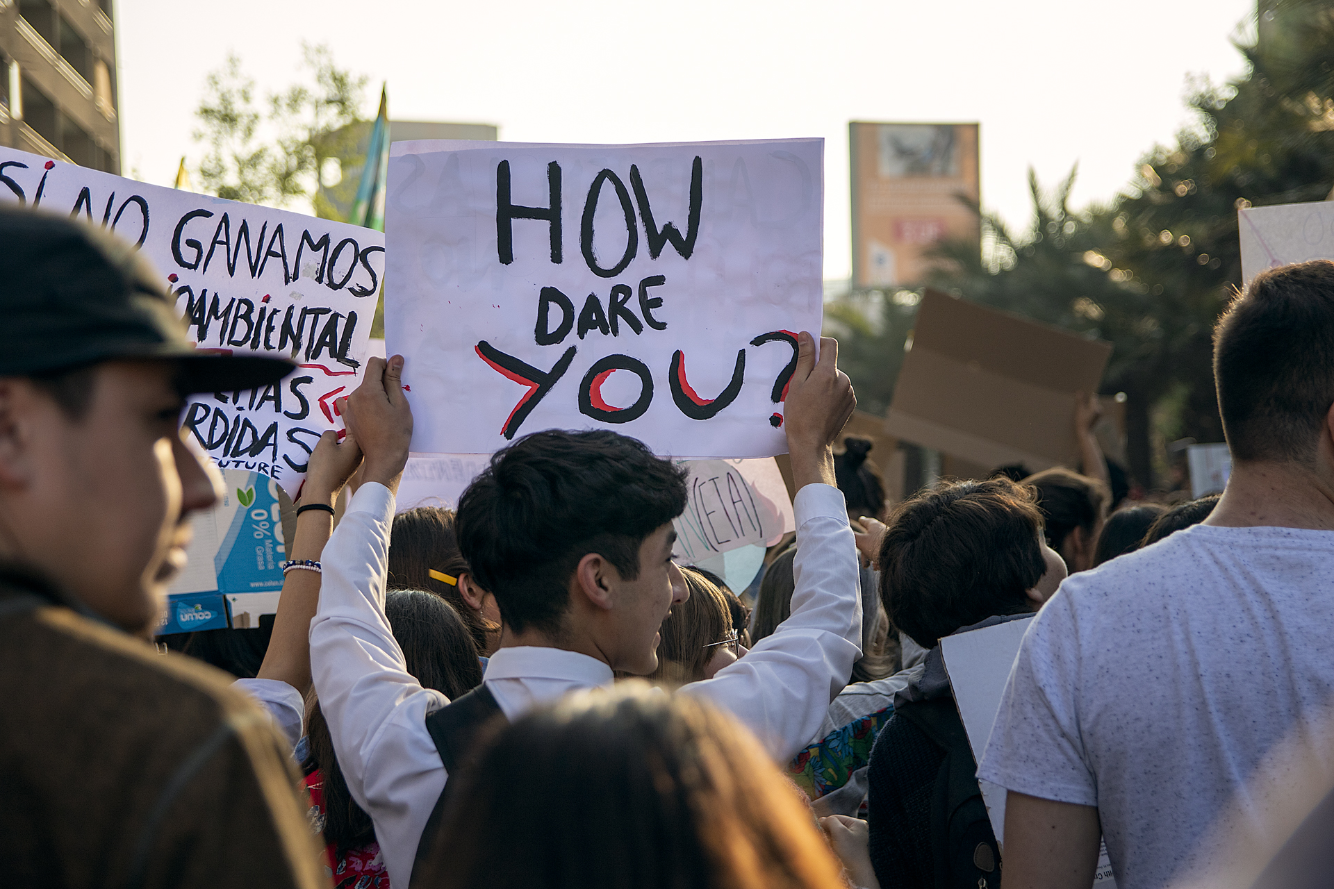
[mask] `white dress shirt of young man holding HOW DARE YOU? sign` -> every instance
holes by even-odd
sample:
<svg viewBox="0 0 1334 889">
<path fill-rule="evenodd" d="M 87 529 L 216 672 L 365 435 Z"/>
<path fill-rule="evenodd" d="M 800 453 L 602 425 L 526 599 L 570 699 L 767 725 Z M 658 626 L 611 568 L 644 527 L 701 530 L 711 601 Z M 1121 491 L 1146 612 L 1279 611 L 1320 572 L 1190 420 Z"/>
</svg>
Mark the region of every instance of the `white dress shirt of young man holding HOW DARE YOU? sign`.
<svg viewBox="0 0 1334 889">
<path fill-rule="evenodd" d="M 680 689 L 730 710 L 778 762 L 806 746 L 862 654 L 856 545 L 843 494 L 807 485 L 795 509 L 791 617 L 714 678 Z M 391 885 L 407 889 L 447 778 L 426 716 L 450 701 L 407 672 L 384 617 L 392 522 L 394 494 L 363 484 L 324 548 L 311 673 L 347 786 L 375 822 Z M 607 685 L 612 672 L 576 652 L 502 648 L 483 681 L 515 720 L 567 692 Z"/>
</svg>

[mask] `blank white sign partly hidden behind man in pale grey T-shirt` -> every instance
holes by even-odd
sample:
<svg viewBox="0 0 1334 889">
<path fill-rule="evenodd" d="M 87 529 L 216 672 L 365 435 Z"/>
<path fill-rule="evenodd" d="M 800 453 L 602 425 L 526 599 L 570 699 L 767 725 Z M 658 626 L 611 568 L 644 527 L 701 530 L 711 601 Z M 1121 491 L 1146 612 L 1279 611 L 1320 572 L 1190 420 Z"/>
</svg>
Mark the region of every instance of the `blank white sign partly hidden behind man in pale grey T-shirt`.
<svg viewBox="0 0 1334 889">
<path fill-rule="evenodd" d="M 1019 644 L 1029 624 L 1029 618 L 1013 620 L 940 640 L 944 672 L 950 676 L 954 702 L 959 708 L 959 718 L 968 734 L 974 760 L 980 761 L 983 750 L 987 749 L 991 726 L 995 725 L 1000 698 L 1010 680 L 1010 668 L 1019 654 Z M 1006 789 L 982 780 L 978 780 L 978 786 L 982 789 L 982 801 L 986 802 L 991 830 L 995 833 L 1003 858 Z M 1106 842 L 1098 852 L 1093 885 L 1098 889 L 1115 889 L 1117 885 Z"/>
</svg>

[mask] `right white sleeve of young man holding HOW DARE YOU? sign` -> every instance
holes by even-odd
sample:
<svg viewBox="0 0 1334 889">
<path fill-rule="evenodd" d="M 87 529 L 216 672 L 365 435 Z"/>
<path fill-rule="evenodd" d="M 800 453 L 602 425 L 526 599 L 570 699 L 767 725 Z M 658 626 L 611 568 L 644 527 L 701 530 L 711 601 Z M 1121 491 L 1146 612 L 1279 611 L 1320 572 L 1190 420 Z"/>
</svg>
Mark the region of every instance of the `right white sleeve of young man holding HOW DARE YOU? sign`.
<svg viewBox="0 0 1334 889">
<path fill-rule="evenodd" d="M 791 616 L 714 678 L 682 686 L 744 722 L 778 762 L 810 744 L 862 656 L 856 541 L 843 493 L 796 492 Z"/>
</svg>

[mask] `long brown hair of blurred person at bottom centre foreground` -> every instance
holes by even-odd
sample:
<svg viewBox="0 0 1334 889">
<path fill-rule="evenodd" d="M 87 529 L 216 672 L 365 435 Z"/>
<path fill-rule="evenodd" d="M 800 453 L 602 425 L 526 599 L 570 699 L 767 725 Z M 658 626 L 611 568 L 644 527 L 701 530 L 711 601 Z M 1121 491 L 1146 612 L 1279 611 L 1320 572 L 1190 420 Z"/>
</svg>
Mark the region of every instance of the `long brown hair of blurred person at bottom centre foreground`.
<svg viewBox="0 0 1334 889">
<path fill-rule="evenodd" d="M 459 784 L 423 885 L 844 885 L 799 792 L 748 732 L 706 702 L 626 682 L 494 732 L 451 778 Z"/>
</svg>

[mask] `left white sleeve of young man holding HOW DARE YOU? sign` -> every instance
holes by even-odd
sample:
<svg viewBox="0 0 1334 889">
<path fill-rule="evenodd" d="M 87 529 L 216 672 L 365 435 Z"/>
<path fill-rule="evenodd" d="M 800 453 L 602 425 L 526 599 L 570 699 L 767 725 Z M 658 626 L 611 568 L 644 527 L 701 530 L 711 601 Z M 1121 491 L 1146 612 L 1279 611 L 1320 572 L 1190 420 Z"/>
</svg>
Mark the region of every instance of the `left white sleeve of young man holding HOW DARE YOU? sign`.
<svg viewBox="0 0 1334 889">
<path fill-rule="evenodd" d="M 408 885 L 446 772 L 426 728 L 448 698 L 407 672 L 384 617 L 394 494 L 366 482 L 324 546 L 311 676 L 352 798 L 375 822 L 390 881 Z"/>
</svg>

